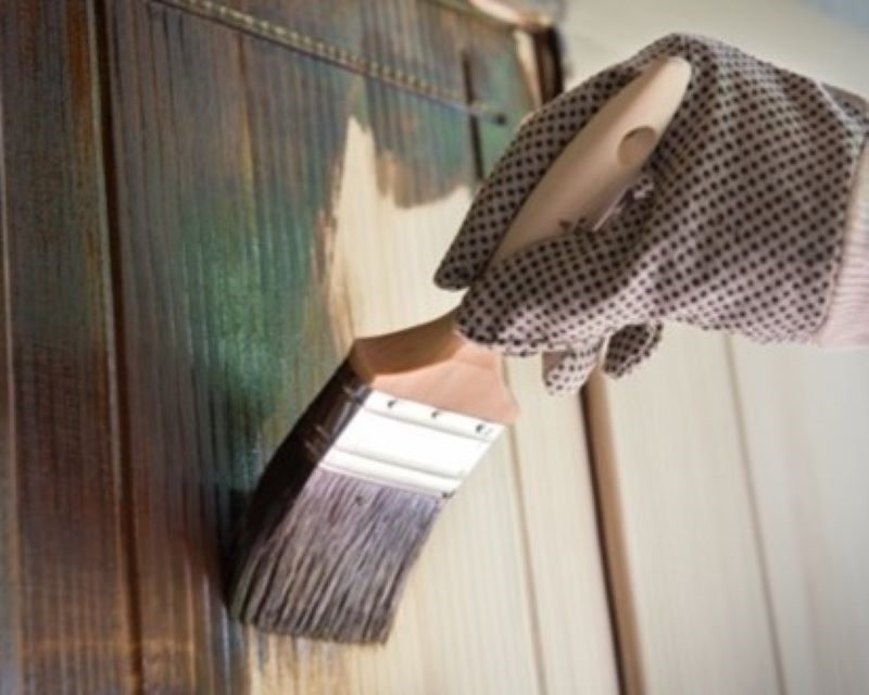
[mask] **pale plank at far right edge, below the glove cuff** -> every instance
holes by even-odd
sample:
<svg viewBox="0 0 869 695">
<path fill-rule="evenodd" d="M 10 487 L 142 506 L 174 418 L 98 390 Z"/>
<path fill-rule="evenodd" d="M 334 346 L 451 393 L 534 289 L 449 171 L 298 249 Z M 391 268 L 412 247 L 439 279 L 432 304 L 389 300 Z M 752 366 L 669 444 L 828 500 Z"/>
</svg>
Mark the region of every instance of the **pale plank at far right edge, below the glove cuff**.
<svg viewBox="0 0 869 695">
<path fill-rule="evenodd" d="M 869 358 L 732 345 L 788 693 L 869 683 Z"/>
</svg>

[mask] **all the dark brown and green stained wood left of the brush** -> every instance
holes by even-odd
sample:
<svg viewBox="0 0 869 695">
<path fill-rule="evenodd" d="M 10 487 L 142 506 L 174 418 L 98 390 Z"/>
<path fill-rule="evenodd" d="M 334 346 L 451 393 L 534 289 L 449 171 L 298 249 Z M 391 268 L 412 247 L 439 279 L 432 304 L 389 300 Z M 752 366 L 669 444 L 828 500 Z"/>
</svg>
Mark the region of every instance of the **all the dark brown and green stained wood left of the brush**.
<svg viewBox="0 0 869 695">
<path fill-rule="evenodd" d="M 0 693 L 243 693 L 255 655 L 337 692 L 340 648 L 227 618 L 225 555 L 342 357 L 326 288 L 349 119 L 401 205 L 473 185 L 530 103 L 512 29 L 421 0 L 207 3 L 457 108 L 255 24 L 95 2 L 0 8 Z"/>
</svg>

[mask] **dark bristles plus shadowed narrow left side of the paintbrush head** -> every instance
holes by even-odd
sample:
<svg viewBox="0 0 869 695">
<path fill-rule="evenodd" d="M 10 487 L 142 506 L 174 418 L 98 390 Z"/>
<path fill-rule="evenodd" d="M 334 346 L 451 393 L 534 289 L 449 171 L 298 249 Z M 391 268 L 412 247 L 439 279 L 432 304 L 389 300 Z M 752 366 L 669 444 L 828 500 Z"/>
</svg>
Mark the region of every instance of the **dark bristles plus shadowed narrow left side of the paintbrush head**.
<svg viewBox="0 0 869 695">
<path fill-rule="evenodd" d="M 337 642 L 389 635 L 443 500 L 318 468 L 367 390 L 344 363 L 275 453 L 239 529 L 235 618 Z"/>
</svg>

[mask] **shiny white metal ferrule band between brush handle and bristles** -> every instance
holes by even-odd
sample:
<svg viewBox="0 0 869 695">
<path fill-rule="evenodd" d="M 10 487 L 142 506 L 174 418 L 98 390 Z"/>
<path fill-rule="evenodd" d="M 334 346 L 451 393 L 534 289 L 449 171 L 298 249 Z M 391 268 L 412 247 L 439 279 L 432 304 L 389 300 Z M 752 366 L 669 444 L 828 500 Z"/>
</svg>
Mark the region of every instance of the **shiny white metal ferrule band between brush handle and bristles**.
<svg viewBox="0 0 869 695">
<path fill-rule="evenodd" d="M 504 429 L 371 389 L 319 467 L 450 496 Z"/>
</svg>

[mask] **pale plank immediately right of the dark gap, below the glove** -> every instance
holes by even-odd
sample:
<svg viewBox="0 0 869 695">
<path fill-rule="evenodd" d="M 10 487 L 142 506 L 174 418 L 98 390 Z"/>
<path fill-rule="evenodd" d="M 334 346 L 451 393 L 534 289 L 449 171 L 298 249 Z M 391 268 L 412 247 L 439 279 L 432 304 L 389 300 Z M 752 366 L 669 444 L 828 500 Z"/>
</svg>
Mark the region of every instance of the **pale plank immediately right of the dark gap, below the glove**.
<svg viewBox="0 0 869 695">
<path fill-rule="evenodd" d="M 642 370 L 590 386 L 628 692 L 780 692 L 722 339 L 668 326 Z"/>
</svg>

